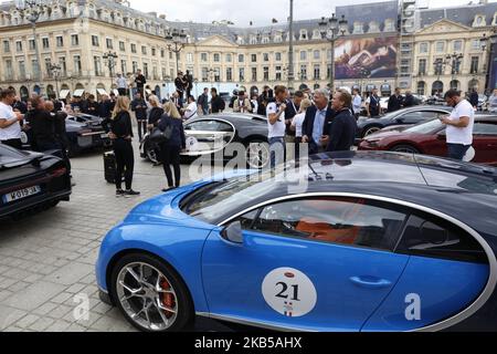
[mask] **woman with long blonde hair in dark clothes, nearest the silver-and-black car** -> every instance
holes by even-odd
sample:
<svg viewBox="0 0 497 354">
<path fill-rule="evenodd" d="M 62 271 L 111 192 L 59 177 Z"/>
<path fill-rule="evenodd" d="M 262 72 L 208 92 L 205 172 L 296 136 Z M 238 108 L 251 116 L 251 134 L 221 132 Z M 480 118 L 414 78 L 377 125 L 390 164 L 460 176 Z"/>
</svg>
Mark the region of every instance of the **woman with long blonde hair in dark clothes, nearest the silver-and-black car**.
<svg viewBox="0 0 497 354">
<path fill-rule="evenodd" d="M 171 137 L 160 145 L 160 159 L 169 186 L 162 191 L 168 191 L 181 185 L 180 154 L 181 150 L 187 148 L 187 138 L 184 136 L 183 119 L 176 105 L 172 102 L 168 102 L 165 104 L 163 110 L 166 113 L 160 119 L 159 129 L 162 132 L 168 128 L 172 129 Z M 171 165 L 175 170 L 175 180 L 172 180 Z"/>
</svg>

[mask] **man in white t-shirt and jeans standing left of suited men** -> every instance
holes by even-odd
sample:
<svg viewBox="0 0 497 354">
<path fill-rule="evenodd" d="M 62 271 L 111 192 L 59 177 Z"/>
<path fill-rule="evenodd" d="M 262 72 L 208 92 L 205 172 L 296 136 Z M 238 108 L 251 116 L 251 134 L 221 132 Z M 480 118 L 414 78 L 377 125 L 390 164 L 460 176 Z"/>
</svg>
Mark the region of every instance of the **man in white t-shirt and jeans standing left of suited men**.
<svg viewBox="0 0 497 354">
<path fill-rule="evenodd" d="M 283 164 L 285 162 L 285 100 L 287 91 L 285 86 L 276 86 L 274 91 L 276 102 L 271 102 L 266 108 L 267 125 L 269 129 L 269 152 L 271 152 L 271 168 Z"/>
</svg>

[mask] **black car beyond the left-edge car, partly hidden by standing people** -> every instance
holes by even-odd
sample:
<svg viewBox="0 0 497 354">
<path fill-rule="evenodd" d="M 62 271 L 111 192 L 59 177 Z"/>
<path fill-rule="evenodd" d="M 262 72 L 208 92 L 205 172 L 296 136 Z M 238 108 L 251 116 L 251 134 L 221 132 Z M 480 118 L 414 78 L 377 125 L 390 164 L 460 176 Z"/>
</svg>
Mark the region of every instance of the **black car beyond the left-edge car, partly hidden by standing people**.
<svg viewBox="0 0 497 354">
<path fill-rule="evenodd" d="M 110 146 L 110 139 L 102 127 L 102 118 L 88 114 L 67 116 L 65 128 L 67 131 L 70 156 L 75 156 L 92 148 Z M 25 148 L 31 148 L 31 140 L 30 131 L 22 134 L 22 143 Z"/>
</svg>

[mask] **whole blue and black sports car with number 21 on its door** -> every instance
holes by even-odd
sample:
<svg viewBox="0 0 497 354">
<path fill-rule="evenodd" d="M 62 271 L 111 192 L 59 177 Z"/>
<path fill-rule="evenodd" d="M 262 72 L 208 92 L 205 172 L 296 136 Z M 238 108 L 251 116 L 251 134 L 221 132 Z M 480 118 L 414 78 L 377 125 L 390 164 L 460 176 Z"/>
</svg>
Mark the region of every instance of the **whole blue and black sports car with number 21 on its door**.
<svg viewBox="0 0 497 354">
<path fill-rule="evenodd" d="M 497 169 L 398 153 L 307 163 L 139 205 L 103 241 L 101 299 L 151 332 L 195 315 L 293 331 L 497 330 Z"/>
</svg>

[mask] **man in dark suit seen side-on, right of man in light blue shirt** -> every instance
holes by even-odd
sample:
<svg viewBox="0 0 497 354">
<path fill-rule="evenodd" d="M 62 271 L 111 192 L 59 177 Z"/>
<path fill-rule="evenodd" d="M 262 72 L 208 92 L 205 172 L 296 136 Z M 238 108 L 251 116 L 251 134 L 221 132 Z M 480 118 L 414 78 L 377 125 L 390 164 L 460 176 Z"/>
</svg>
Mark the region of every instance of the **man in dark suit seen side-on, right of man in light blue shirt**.
<svg viewBox="0 0 497 354">
<path fill-rule="evenodd" d="M 350 152 L 353 146 L 357 121 L 350 112 L 351 102 L 352 96 L 345 90 L 337 90 L 331 100 L 331 108 L 336 115 L 322 138 L 327 143 L 327 152 Z"/>
</svg>

